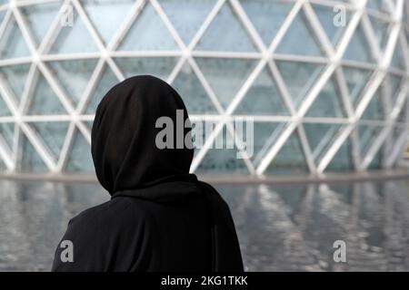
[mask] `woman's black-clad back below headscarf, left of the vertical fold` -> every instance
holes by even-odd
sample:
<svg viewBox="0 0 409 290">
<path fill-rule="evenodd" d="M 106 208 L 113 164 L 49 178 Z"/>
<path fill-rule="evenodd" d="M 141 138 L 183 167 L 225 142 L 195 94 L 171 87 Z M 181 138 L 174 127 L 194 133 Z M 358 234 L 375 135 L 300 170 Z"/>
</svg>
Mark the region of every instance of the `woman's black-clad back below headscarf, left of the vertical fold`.
<svg viewBox="0 0 409 290">
<path fill-rule="evenodd" d="M 210 271 L 211 227 L 200 193 L 177 203 L 118 197 L 73 218 L 62 240 L 74 263 L 55 253 L 54 271 Z"/>
</svg>

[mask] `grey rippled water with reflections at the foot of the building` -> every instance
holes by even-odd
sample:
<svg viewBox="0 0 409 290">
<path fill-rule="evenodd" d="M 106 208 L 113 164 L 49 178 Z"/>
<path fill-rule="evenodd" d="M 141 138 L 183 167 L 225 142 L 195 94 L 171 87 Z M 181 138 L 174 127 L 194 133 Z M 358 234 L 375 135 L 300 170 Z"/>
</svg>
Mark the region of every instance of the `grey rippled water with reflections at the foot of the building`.
<svg viewBox="0 0 409 290">
<path fill-rule="evenodd" d="M 409 270 L 409 180 L 216 188 L 246 270 Z M 69 218 L 108 198 L 96 184 L 0 180 L 0 271 L 48 271 Z"/>
</svg>

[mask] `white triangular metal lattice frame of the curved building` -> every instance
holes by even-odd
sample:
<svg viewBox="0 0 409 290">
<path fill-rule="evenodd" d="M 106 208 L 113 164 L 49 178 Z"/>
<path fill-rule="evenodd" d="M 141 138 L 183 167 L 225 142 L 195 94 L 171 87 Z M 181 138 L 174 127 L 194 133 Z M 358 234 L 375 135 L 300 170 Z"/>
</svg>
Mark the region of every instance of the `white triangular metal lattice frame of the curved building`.
<svg viewBox="0 0 409 290">
<path fill-rule="evenodd" d="M 192 171 L 198 168 L 200 162 L 205 158 L 205 154 L 212 146 L 214 139 L 223 130 L 224 126 L 227 127 L 227 130 L 232 137 L 238 140 L 237 136 L 234 136 L 234 130 L 230 122 L 231 118 L 239 118 L 234 116 L 234 110 L 237 108 L 239 103 L 243 100 L 246 92 L 252 87 L 254 81 L 256 80 L 259 73 L 261 73 L 264 68 L 267 68 L 274 77 L 274 82 L 277 85 L 278 91 L 281 93 L 284 104 L 287 107 L 288 111 L 291 113 L 291 116 L 251 116 L 254 118 L 254 121 L 280 121 L 287 122 L 288 125 L 282 131 L 281 135 L 275 140 L 274 145 L 267 150 L 264 159 L 261 160 L 257 166 L 254 166 L 251 160 L 244 159 L 244 163 L 249 170 L 250 174 L 257 175 L 262 177 L 264 171 L 268 168 L 271 162 L 274 160 L 274 157 L 282 149 L 286 140 L 293 134 L 296 133 L 302 148 L 304 150 L 305 161 L 310 172 L 314 175 L 324 174 L 324 170 L 330 164 L 331 160 L 334 159 L 335 154 L 344 144 L 346 139 L 350 139 L 353 146 L 353 162 L 354 168 L 356 170 L 365 170 L 374 160 L 376 153 L 385 147 L 390 148 L 391 154 L 388 154 L 387 159 L 384 161 L 384 167 L 390 168 L 393 166 L 394 161 L 399 158 L 402 154 L 402 150 L 407 142 L 407 121 L 399 122 L 397 118 L 401 111 L 408 111 L 409 107 L 408 102 L 405 102 L 409 90 L 409 82 L 405 82 L 401 88 L 397 102 L 394 107 L 391 107 L 391 104 L 384 100 L 384 106 L 387 110 L 387 116 L 383 121 L 360 121 L 360 117 L 363 115 L 368 104 L 371 102 L 374 93 L 378 90 L 382 82 L 384 81 L 387 73 L 397 73 L 402 75 L 405 80 L 409 78 L 409 69 L 406 69 L 405 72 L 395 71 L 390 68 L 390 63 L 392 62 L 394 56 L 394 49 L 398 42 L 404 47 L 404 58 L 405 58 L 405 67 L 409 68 L 409 50 L 407 45 L 406 35 L 404 34 L 404 29 L 409 29 L 407 24 L 403 27 L 403 12 L 404 8 L 409 9 L 409 5 L 404 3 L 404 0 L 384 0 L 386 7 L 389 9 L 389 13 L 385 14 L 382 12 L 374 11 L 372 9 L 366 8 L 368 0 L 351 0 L 350 3 L 337 2 L 331 0 L 288 0 L 293 2 L 293 8 L 287 14 L 284 23 L 281 25 L 277 34 L 274 36 L 272 43 L 267 45 L 263 42 L 260 34 L 258 34 L 254 24 L 251 19 L 248 17 L 244 11 L 243 6 L 239 0 L 217 0 L 215 5 L 212 8 L 211 12 L 206 16 L 204 23 L 196 32 L 190 43 L 184 43 L 180 35 L 178 34 L 175 26 L 172 24 L 171 20 L 165 13 L 165 10 L 160 4 L 160 0 L 136 0 L 135 4 L 130 9 L 129 13 L 125 17 L 124 22 L 121 24 L 120 28 L 116 32 L 115 36 L 112 38 L 110 43 L 104 43 L 101 36 L 98 34 L 95 24 L 92 23 L 90 18 L 87 16 L 84 4 L 79 0 L 21 0 L 15 1 L 10 0 L 8 4 L 0 5 L 0 11 L 5 11 L 4 21 L 0 24 L 0 41 L 2 35 L 5 32 L 6 25 L 15 19 L 16 24 L 22 33 L 22 36 L 27 44 L 27 47 L 31 53 L 31 56 L 28 57 L 19 57 L 13 59 L 2 59 L 0 58 L 0 68 L 5 65 L 13 65 L 19 63 L 30 63 L 31 67 L 28 73 L 28 81 L 25 85 L 25 91 L 22 96 L 22 102 L 20 105 L 17 105 L 15 102 L 15 96 L 13 95 L 12 90 L 7 86 L 5 79 L 0 74 L 0 94 L 3 96 L 3 100 L 7 105 L 9 111 L 12 112 L 11 117 L 0 117 L 0 123 L 2 122 L 12 122 L 15 123 L 15 140 L 14 148 L 9 149 L 5 145 L 5 140 L 3 140 L 0 135 L 0 159 L 4 161 L 6 168 L 9 172 L 18 172 L 19 170 L 19 159 L 21 156 L 21 149 L 19 148 L 19 139 L 20 134 L 24 133 L 27 139 L 34 146 L 35 150 L 38 152 L 39 156 L 44 160 L 45 165 L 51 172 L 62 172 L 65 169 L 65 164 L 69 158 L 71 147 L 73 145 L 73 139 L 75 137 L 75 132 L 79 131 L 85 136 L 85 139 L 90 143 L 91 136 L 90 131 L 86 127 L 84 121 L 93 121 L 93 115 L 86 115 L 85 109 L 87 103 L 90 101 L 90 98 L 93 95 L 95 87 L 97 86 L 102 74 L 105 72 L 105 69 L 112 70 L 115 73 L 118 81 L 125 79 L 125 74 L 117 66 L 114 61 L 114 57 L 152 57 L 152 56 L 169 56 L 169 57 L 178 57 L 178 61 L 175 64 L 175 68 L 172 73 L 167 78 L 167 82 L 172 83 L 175 80 L 175 77 L 182 69 L 185 63 L 188 63 L 194 73 L 196 74 L 198 80 L 201 82 L 207 92 L 211 102 L 213 102 L 215 109 L 218 112 L 218 116 L 214 116 L 218 120 L 218 124 L 215 127 L 213 133 L 205 140 L 204 147 L 197 152 L 195 160 L 192 164 Z M 371 1 L 371 0 L 369 0 Z M 81 20 L 84 22 L 85 27 L 92 39 L 95 41 L 95 45 L 98 48 L 98 52 L 95 53 L 60 53 L 60 54 L 50 54 L 49 50 L 52 44 L 55 42 L 55 38 L 61 30 L 60 18 L 63 14 L 63 10 L 60 9 L 58 14 L 55 16 L 55 20 L 51 25 L 48 32 L 45 34 L 45 37 L 39 45 L 36 45 L 33 37 L 33 33 L 25 21 L 25 16 L 21 12 L 21 7 L 34 4 L 42 4 L 48 2 L 59 2 L 61 4 L 73 5 L 75 13 L 78 17 L 81 17 Z M 348 22 L 347 26 L 344 29 L 344 34 L 340 42 L 336 47 L 331 43 L 328 36 L 325 34 L 324 27 L 320 23 L 317 15 L 314 12 L 313 4 L 319 5 L 328 5 L 333 7 L 334 5 L 344 5 L 344 7 L 351 14 L 351 19 Z M 179 51 L 149 51 L 149 52 L 123 52 L 116 51 L 117 47 L 121 43 L 122 39 L 125 37 L 128 30 L 132 27 L 135 21 L 138 19 L 138 15 L 143 11 L 145 5 L 152 5 L 155 9 L 156 14 L 165 24 L 165 27 L 169 33 L 173 36 L 175 43 L 177 43 L 180 48 Z M 217 16 L 218 12 L 223 5 L 229 5 L 230 8 L 234 11 L 237 20 L 243 24 L 245 32 L 249 35 L 250 39 L 254 43 L 254 46 L 258 50 L 256 53 L 233 53 L 233 52 L 205 52 L 195 50 L 195 45 L 199 42 L 201 37 L 205 34 L 206 29 L 212 23 L 214 18 Z M 320 43 L 325 55 L 324 57 L 313 57 L 313 56 L 301 56 L 301 55 L 286 55 L 275 53 L 276 48 L 281 43 L 285 33 L 291 27 L 291 24 L 294 21 L 294 18 L 297 14 L 303 13 L 305 18 L 308 21 L 308 24 L 311 26 L 311 29 L 314 31 L 317 41 Z M 385 48 L 379 47 L 376 36 L 374 34 L 374 28 L 368 18 L 368 14 L 374 15 L 385 21 L 389 22 L 390 34 L 388 35 L 387 43 Z M 348 44 L 350 43 L 355 29 L 359 24 L 362 24 L 364 36 L 366 37 L 367 42 L 370 44 L 371 51 L 373 53 L 376 63 L 357 63 L 352 61 L 343 60 L 344 52 L 346 51 Z M 234 96 L 233 101 L 229 106 L 224 110 L 222 104 L 218 101 L 217 94 L 214 92 L 212 86 L 207 82 L 205 74 L 202 73 L 199 65 L 195 62 L 195 57 L 212 57 L 212 58 L 241 58 L 241 59 L 254 59 L 257 60 L 257 64 L 254 67 L 252 73 L 244 81 L 240 90 Z M 97 64 L 95 66 L 95 71 L 92 74 L 86 88 L 83 93 L 81 100 L 78 105 L 75 107 L 69 101 L 69 97 L 65 95 L 64 90 L 62 90 L 61 85 L 58 80 L 55 78 L 53 73 L 51 73 L 48 68 L 46 61 L 51 60 L 73 60 L 73 59 L 97 59 Z M 286 87 L 286 84 L 281 76 L 280 71 L 278 70 L 275 61 L 276 60 L 287 60 L 287 61 L 297 61 L 305 63 L 323 63 L 324 71 L 319 75 L 314 85 L 309 90 L 307 95 L 304 98 L 304 101 L 299 106 L 298 109 L 295 108 L 290 93 Z M 345 76 L 343 71 L 343 65 L 350 65 L 353 67 L 363 67 L 374 70 L 374 74 L 368 83 L 364 95 L 358 104 L 356 110 L 354 110 L 353 104 L 348 97 L 348 86 L 345 82 Z M 38 73 L 42 73 L 45 77 L 46 82 L 49 83 L 52 90 L 55 92 L 55 95 L 58 97 L 59 101 L 62 103 L 66 110 L 66 115 L 62 116 L 27 116 L 25 115 L 25 110 L 27 109 L 27 100 L 30 98 L 34 86 L 35 80 L 38 77 Z M 342 102 L 344 105 L 344 111 L 347 114 L 346 118 L 308 118 L 304 117 L 305 113 L 313 104 L 315 98 L 319 95 L 323 89 L 326 82 L 334 77 L 334 80 L 337 82 L 339 87 L 340 95 L 342 97 Z M 406 106 L 406 107 L 404 107 Z M 202 120 L 205 117 L 204 115 L 192 115 L 193 120 Z M 36 135 L 35 131 L 29 126 L 28 121 L 69 121 L 68 131 L 65 137 L 65 143 L 61 154 L 57 160 L 50 153 L 50 150 L 47 148 L 47 145 Z M 309 147 L 308 141 L 305 136 L 304 131 L 304 122 L 319 122 L 319 123 L 335 123 L 343 124 L 344 129 L 339 133 L 336 140 L 334 140 L 331 147 L 326 150 L 324 157 L 320 160 L 319 163 L 315 164 L 312 150 Z M 355 131 L 355 128 L 358 124 L 361 123 L 379 125 L 382 126 L 382 131 L 376 136 L 373 140 L 369 150 L 364 156 L 361 156 L 359 150 L 359 138 Z M 395 144 L 390 144 L 388 136 L 394 127 L 402 128 L 402 134 Z M 388 143 L 389 142 L 389 143 Z M 245 152 L 242 152 L 245 156 Z"/>
</svg>

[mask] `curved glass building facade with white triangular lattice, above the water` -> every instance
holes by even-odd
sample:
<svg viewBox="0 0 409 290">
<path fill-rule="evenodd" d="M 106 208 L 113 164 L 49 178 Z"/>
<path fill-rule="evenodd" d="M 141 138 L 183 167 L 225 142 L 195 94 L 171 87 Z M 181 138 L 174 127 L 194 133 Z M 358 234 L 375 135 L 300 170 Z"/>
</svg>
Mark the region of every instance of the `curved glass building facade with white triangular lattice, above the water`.
<svg viewBox="0 0 409 290">
<path fill-rule="evenodd" d="M 196 173 L 392 168 L 407 140 L 407 12 L 404 0 L 0 1 L 0 170 L 92 173 L 95 106 L 141 73 L 217 122 Z M 210 145 L 230 117 L 254 120 L 249 159 Z"/>
</svg>

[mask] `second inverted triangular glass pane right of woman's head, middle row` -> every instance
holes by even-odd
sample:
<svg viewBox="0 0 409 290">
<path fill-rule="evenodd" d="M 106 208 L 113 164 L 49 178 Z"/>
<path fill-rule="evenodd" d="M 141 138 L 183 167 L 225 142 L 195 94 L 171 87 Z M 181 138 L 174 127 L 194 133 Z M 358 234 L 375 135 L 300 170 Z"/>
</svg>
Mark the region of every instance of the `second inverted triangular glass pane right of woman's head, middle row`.
<svg viewBox="0 0 409 290">
<path fill-rule="evenodd" d="M 298 107 L 304 100 L 306 93 L 314 85 L 324 65 L 287 61 L 276 61 L 275 63 L 287 85 L 287 90 L 293 98 L 295 106 Z"/>
</svg>

